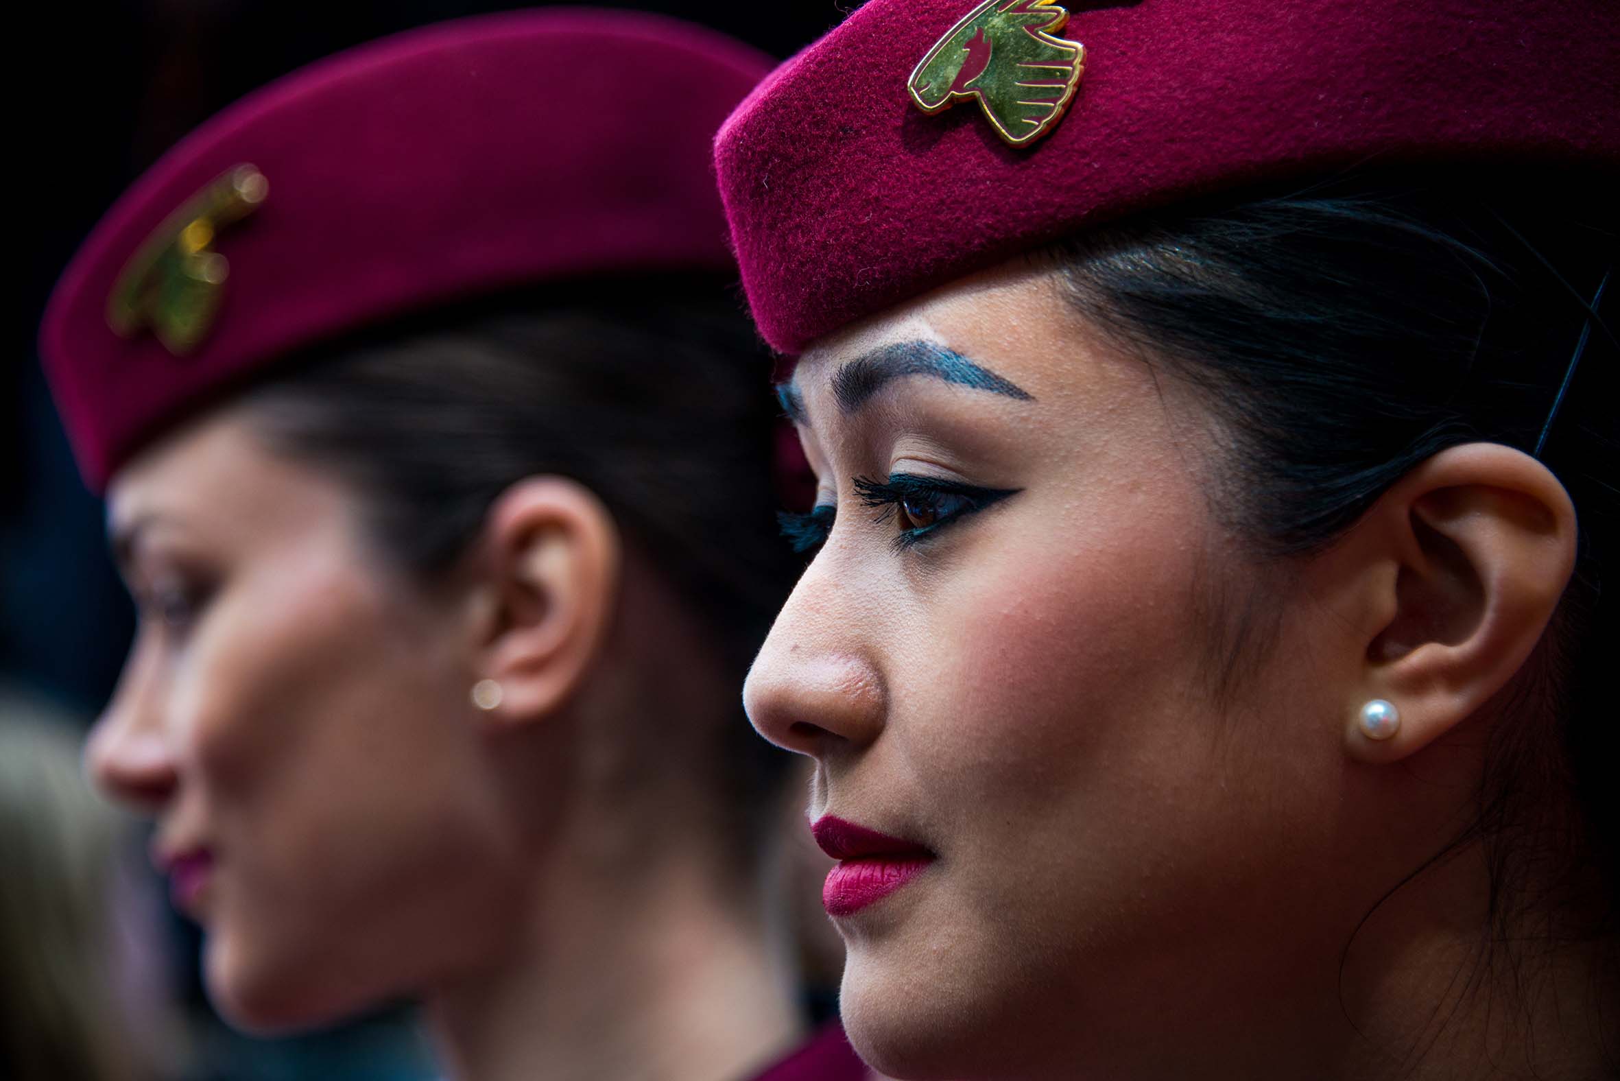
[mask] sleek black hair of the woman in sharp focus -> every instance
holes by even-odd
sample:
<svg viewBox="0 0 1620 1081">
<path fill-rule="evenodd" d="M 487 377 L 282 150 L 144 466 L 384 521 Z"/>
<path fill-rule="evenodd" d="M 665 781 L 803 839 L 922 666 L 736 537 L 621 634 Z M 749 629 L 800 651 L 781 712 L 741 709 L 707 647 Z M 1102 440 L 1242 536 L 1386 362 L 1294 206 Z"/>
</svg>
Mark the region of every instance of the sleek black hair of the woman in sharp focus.
<svg viewBox="0 0 1620 1081">
<path fill-rule="evenodd" d="M 1209 405 L 1221 446 L 1212 506 L 1257 559 L 1319 551 L 1400 476 L 1463 442 L 1539 451 L 1568 489 L 1575 577 L 1513 687 L 1507 708 L 1524 723 L 1497 726 L 1476 822 L 1448 849 L 1484 841 L 1498 938 L 1554 901 L 1524 893 L 1549 857 L 1563 885 L 1602 875 L 1594 940 L 1612 945 L 1620 912 L 1609 699 L 1620 596 L 1605 582 L 1620 543 L 1620 355 L 1612 321 L 1588 327 L 1620 254 L 1602 190 L 1575 170 L 1490 182 L 1364 172 L 1056 246 L 1079 311 Z M 1244 611 L 1236 622 L 1221 681 L 1264 655 L 1265 621 Z"/>
</svg>

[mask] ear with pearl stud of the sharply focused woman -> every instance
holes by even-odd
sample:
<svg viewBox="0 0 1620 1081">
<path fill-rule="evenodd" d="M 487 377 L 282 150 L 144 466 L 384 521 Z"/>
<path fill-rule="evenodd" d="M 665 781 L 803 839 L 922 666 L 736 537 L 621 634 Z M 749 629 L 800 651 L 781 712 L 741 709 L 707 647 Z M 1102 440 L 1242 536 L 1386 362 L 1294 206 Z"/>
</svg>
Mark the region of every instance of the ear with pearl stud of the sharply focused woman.
<svg viewBox="0 0 1620 1081">
<path fill-rule="evenodd" d="M 1575 569 L 1575 506 L 1536 459 L 1471 442 L 1403 476 L 1353 533 L 1367 619 L 1346 747 L 1395 762 L 1484 707 L 1536 648 Z M 1400 710 L 1395 736 L 1361 731 L 1372 699 Z"/>
</svg>

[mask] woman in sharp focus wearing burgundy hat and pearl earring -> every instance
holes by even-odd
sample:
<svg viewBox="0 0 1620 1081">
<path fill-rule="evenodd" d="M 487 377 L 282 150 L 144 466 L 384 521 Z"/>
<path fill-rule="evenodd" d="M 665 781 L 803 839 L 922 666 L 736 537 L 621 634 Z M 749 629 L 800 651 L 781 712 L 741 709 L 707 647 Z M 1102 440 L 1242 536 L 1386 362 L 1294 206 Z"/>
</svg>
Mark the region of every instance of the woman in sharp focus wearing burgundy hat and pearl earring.
<svg viewBox="0 0 1620 1081">
<path fill-rule="evenodd" d="M 870 0 L 718 138 L 901 1078 L 1620 1076 L 1601 0 Z"/>
</svg>

